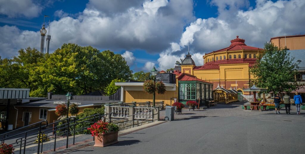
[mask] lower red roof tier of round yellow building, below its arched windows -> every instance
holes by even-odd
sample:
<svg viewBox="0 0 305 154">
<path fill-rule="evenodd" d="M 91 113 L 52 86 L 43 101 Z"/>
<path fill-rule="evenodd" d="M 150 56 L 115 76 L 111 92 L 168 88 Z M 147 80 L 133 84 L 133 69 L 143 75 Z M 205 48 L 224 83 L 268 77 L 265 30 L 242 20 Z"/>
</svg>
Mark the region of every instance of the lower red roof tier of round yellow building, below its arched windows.
<svg viewBox="0 0 305 154">
<path fill-rule="evenodd" d="M 256 59 L 225 59 L 225 60 L 217 60 L 214 62 L 206 63 L 203 66 L 196 66 L 193 70 L 202 70 L 202 69 L 219 69 L 219 65 L 222 64 L 248 64 L 249 67 L 252 67 L 256 62 Z"/>
</svg>

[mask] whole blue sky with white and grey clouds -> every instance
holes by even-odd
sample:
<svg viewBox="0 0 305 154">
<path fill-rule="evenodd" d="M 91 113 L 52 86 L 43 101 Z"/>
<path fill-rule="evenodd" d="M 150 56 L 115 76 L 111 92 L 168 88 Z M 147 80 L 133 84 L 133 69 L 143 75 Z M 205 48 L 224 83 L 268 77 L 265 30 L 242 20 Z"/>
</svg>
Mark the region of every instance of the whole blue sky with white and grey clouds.
<svg viewBox="0 0 305 154">
<path fill-rule="evenodd" d="M 0 56 L 63 43 L 121 54 L 134 71 L 167 70 L 189 52 L 203 55 L 246 40 L 263 48 L 270 38 L 304 34 L 305 0 L 0 0 Z"/>
</svg>

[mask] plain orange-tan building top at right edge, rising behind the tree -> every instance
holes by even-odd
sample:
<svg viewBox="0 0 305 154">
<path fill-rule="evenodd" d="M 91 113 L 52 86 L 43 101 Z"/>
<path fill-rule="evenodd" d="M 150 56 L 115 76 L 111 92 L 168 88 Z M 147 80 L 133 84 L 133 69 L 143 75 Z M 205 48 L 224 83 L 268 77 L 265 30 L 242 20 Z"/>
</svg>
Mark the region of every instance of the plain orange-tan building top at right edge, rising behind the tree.
<svg viewBox="0 0 305 154">
<path fill-rule="evenodd" d="M 281 49 L 285 46 L 289 50 L 305 49 L 305 35 L 279 36 L 271 38 L 270 42 Z"/>
</svg>

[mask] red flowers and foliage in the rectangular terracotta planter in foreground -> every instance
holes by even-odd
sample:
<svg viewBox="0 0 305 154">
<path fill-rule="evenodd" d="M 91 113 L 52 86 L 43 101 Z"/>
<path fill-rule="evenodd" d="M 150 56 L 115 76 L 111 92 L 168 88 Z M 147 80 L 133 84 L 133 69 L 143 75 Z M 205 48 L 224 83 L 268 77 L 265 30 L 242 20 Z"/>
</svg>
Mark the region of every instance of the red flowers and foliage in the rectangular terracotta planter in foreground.
<svg viewBox="0 0 305 154">
<path fill-rule="evenodd" d="M 97 136 L 98 134 L 109 133 L 113 131 L 118 131 L 119 127 L 113 123 L 107 123 L 103 120 L 99 120 L 98 122 L 91 125 L 91 127 L 87 128 L 90 130 L 92 136 Z"/>
</svg>

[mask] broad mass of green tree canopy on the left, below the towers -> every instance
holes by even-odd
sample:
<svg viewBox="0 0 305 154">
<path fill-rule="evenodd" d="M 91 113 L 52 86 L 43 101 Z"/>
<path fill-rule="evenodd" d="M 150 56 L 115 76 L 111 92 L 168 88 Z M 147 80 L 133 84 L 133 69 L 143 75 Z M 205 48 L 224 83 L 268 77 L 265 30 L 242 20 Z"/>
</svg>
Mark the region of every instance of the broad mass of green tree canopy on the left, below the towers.
<svg viewBox="0 0 305 154">
<path fill-rule="evenodd" d="M 1 87 L 30 88 L 31 97 L 44 97 L 47 92 L 87 94 L 103 90 L 113 79 L 132 77 L 120 54 L 72 43 L 51 54 L 21 49 L 17 57 L 0 60 L 0 71 Z"/>
</svg>

